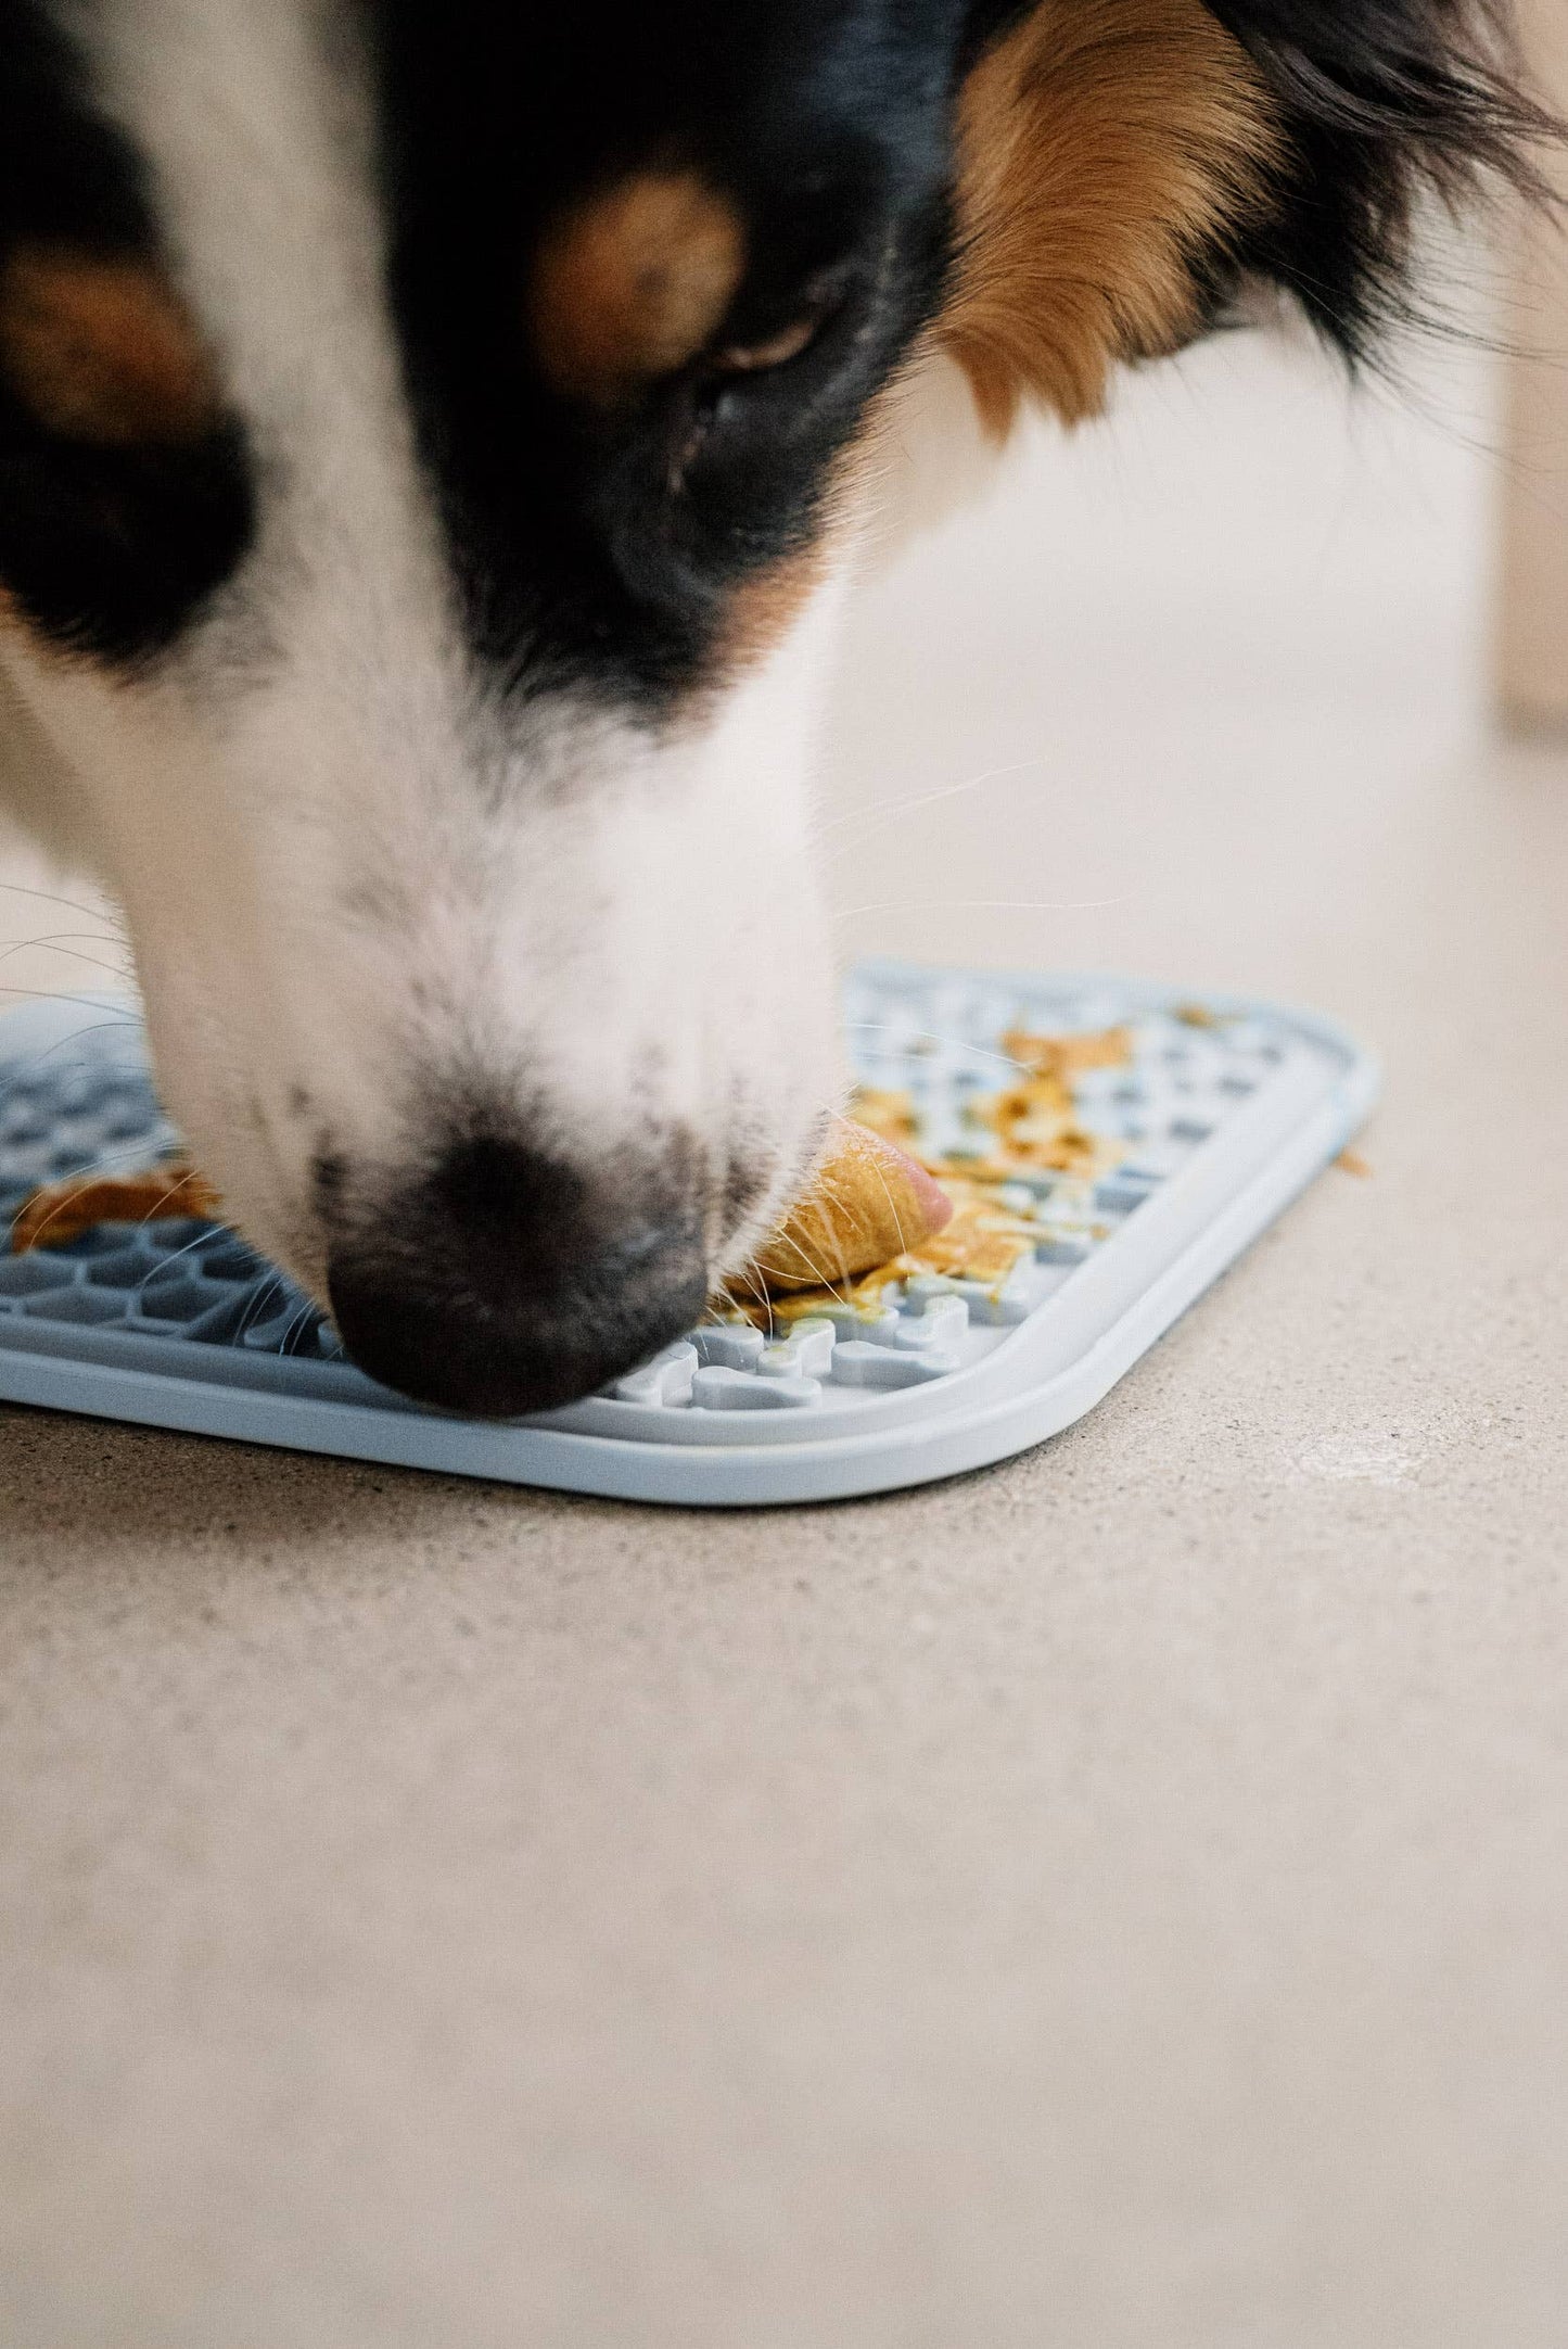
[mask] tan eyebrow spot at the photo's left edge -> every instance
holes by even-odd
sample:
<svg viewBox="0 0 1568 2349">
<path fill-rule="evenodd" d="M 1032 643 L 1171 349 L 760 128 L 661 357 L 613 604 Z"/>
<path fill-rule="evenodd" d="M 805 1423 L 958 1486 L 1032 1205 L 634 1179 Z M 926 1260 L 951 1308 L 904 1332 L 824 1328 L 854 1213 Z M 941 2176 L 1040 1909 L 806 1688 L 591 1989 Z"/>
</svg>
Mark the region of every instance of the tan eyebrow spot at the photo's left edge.
<svg viewBox="0 0 1568 2349">
<path fill-rule="evenodd" d="M 148 261 L 16 247 L 0 270 L 0 369 L 66 439 L 188 442 L 216 413 L 190 315 Z"/>
</svg>

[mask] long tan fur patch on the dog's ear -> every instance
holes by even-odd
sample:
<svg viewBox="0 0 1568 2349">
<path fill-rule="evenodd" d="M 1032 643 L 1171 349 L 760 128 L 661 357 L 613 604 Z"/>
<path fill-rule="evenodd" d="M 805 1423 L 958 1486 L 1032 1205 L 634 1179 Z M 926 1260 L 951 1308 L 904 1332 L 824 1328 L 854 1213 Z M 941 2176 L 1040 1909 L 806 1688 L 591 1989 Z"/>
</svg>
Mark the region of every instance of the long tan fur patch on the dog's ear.
<svg viewBox="0 0 1568 2349">
<path fill-rule="evenodd" d="M 1268 92 L 1202 0 L 1045 0 L 960 96 L 941 341 L 984 423 L 1091 416 L 1117 359 L 1197 327 L 1190 263 L 1268 207 Z"/>
</svg>

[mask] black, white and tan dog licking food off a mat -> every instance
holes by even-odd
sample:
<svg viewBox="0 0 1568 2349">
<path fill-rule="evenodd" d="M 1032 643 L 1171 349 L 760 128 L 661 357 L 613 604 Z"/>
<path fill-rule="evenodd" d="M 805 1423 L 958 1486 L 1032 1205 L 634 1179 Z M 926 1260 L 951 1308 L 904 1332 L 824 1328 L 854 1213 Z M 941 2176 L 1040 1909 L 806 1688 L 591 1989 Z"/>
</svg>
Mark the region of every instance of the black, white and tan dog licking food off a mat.
<svg viewBox="0 0 1568 2349">
<path fill-rule="evenodd" d="M 9 796 L 404 1393 L 681 1334 L 838 1097 L 812 731 L 887 451 L 1533 181 L 1467 0 L 0 0 Z"/>
</svg>

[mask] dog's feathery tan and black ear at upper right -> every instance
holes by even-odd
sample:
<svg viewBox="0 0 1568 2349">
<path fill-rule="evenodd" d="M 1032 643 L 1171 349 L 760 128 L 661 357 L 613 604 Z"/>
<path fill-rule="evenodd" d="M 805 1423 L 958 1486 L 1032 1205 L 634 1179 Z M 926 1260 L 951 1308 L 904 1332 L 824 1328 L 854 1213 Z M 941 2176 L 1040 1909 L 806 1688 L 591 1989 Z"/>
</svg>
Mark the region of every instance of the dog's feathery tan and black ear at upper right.
<svg viewBox="0 0 1568 2349">
<path fill-rule="evenodd" d="M 1352 357 L 1408 305 L 1422 188 L 1537 188 L 1556 127 L 1488 0 L 976 0 L 941 334 L 984 420 L 1077 420 L 1246 277 Z"/>
</svg>

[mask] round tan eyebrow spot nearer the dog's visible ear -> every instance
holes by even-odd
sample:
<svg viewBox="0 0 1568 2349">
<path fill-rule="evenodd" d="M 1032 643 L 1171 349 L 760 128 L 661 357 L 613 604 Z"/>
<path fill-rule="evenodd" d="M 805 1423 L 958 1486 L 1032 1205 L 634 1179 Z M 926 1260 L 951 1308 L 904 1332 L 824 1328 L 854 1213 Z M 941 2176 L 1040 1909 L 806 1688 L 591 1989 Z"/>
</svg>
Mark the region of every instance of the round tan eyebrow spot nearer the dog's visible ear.
<svg viewBox="0 0 1568 2349">
<path fill-rule="evenodd" d="M 533 265 L 545 381 L 596 409 L 636 397 L 702 350 L 744 261 L 739 214 L 695 171 L 646 171 L 573 207 Z"/>
</svg>

